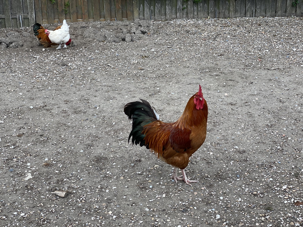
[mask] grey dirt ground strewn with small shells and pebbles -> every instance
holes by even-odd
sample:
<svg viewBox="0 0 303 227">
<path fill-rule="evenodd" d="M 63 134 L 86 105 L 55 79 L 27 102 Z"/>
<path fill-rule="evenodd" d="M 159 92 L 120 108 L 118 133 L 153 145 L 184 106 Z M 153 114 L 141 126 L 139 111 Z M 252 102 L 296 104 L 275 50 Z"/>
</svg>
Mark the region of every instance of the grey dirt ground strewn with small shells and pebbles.
<svg viewBox="0 0 303 227">
<path fill-rule="evenodd" d="M 0 226 L 303 226 L 302 17 L 73 23 L 60 50 L 31 29 L 0 30 Z M 198 84 L 190 187 L 123 107 L 173 122 Z"/>
</svg>

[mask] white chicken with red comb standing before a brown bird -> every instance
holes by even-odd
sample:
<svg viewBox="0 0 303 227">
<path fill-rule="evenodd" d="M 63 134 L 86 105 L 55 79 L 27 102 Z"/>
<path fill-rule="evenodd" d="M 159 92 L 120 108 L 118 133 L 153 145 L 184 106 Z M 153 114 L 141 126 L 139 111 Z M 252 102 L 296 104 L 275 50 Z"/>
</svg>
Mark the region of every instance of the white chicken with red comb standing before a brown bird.
<svg viewBox="0 0 303 227">
<path fill-rule="evenodd" d="M 56 49 L 61 49 L 61 44 L 63 43 L 63 48 L 66 48 L 66 44 L 68 40 L 70 39 L 69 36 L 69 25 L 67 25 L 66 20 L 63 20 L 63 25 L 61 28 L 51 31 L 45 29 L 45 34 L 48 35 L 48 38 L 52 43 L 59 44 L 59 46 Z"/>
</svg>

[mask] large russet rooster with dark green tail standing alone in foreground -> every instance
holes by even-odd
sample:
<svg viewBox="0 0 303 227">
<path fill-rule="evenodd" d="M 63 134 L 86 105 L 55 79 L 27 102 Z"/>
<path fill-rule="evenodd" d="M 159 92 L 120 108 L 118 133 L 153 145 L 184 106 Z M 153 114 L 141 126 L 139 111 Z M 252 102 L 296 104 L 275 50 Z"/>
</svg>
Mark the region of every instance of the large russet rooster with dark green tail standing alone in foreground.
<svg viewBox="0 0 303 227">
<path fill-rule="evenodd" d="M 124 113 L 132 120 L 132 145 L 145 146 L 162 161 L 174 166 L 171 179 L 183 180 L 187 185 L 197 182 L 189 180 L 185 174 L 190 156 L 204 143 L 208 108 L 203 97 L 201 86 L 199 91 L 188 101 L 184 112 L 175 123 L 159 120 L 154 107 L 143 100 L 125 105 Z M 177 176 L 177 168 L 182 176 Z"/>
</svg>

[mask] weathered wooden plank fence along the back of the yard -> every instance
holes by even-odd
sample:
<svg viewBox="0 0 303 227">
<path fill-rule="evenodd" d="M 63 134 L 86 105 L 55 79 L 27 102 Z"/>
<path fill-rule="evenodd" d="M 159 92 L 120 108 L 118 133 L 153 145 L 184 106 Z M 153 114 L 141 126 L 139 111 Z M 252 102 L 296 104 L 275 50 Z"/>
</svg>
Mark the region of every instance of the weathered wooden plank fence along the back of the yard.
<svg viewBox="0 0 303 227">
<path fill-rule="evenodd" d="M 77 21 L 302 16 L 303 0 L 0 0 L 0 28 Z"/>
</svg>

